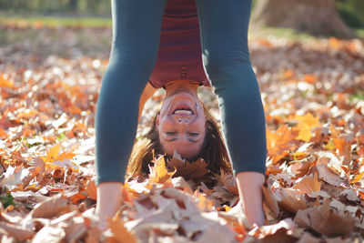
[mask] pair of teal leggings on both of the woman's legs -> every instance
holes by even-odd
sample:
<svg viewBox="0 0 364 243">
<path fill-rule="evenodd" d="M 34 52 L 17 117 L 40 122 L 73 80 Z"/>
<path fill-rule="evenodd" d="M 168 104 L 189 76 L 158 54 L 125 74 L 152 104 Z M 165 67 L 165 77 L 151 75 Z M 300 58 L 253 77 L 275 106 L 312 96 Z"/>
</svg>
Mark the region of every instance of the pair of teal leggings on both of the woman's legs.
<svg viewBox="0 0 364 243">
<path fill-rule="evenodd" d="M 166 0 L 112 0 L 113 44 L 96 108 L 96 184 L 124 182 L 139 97 L 157 61 Z M 265 173 L 264 110 L 248 53 L 251 0 L 196 0 L 203 65 L 235 173 Z"/>
</svg>

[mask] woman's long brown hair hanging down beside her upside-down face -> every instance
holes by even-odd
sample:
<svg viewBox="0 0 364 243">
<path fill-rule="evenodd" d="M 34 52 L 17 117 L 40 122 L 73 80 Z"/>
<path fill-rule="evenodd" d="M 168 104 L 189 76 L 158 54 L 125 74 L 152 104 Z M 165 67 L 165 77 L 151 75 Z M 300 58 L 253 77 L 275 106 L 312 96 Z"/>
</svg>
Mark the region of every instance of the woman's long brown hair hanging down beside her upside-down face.
<svg viewBox="0 0 364 243">
<path fill-rule="evenodd" d="M 201 151 L 197 158 L 202 157 L 207 161 L 207 168 L 214 173 L 219 173 L 222 169 L 225 173 L 232 173 L 231 164 L 227 155 L 227 148 L 224 145 L 221 133 L 217 127 L 214 117 L 204 106 L 206 116 L 206 136 Z M 165 155 L 165 151 L 159 142 L 159 135 L 156 127 L 157 115 L 153 116 L 148 124 L 150 130 L 147 135 L 134 144 L 129 163 L 126 170 L 126 180 L 134 177 L 147 175 L 148 165 L 152 165 L 152 160 L 158 155 Z"/>
</svg>

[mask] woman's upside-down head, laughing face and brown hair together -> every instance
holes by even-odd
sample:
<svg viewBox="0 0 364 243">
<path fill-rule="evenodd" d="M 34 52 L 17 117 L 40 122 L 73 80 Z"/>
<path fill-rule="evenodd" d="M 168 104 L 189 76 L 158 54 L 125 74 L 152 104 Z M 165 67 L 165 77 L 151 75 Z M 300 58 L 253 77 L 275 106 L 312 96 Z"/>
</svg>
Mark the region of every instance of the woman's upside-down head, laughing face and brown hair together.
<svg viewBox="0 0 364 243">
<path fill-rule="evenodd" d="M 229 158 L 227 156 L 227 149 L 218 130 L 217 122 L 207 111 L 205 106 L 203 106 L 200 101 L 198 102 L 197 107 L 196 104 L 195 107 L 193 107 L 188 102 L 185 103 L 187 107 L 182 106 L 182 108 L 189 108 L 195 116 L 190 116 L 191 113 L 189 111 L 177 112 L 177 115 L 186 114 L 187 116 L 173 116 L 176 115 L 175 111 L 178 110 L 179 107 L 175 106 L 177 103 L 172 102 L 168 104 L 165 100 L 166 105 L 163 105 L 161 111 L 157 112 L 150 120 L 150 130 L 147 132 L 146 137 L 140 139 L 134 145 L 126 177 L 136 177 L 142 175 L 142 173 L 148 174 L 148 164 L 151 163 L 154 157 L 165 154 L 172 156 L 175 149 L 181 157 L 187 158 L 190 161 L 196 160 L 198 157 L 202 157 L 205 161 L 207 161 L 207 168 L 214 173 L 219 173 L 220 169 L 223 169 L 227 173 L 232 172 Z M 185 125 L 182 124 L 182 127 L 178 127 L 176 124 L 179 117 L 187 119 L 186 121 L 182 121 L 186 122 Z M 165 119 L 167 121 L 165 121 Z M 197 124 L 195 125 L 194 119 L 197 119 Z M 167 129 L 170 128 L 169 126 L 175 127 L 174 129 L 177 130 L 177 135 L 172 134 L 172 137 L 176 136 L 177 140 L 167 141 L 166 143 L 165 140 L 168 140 L 168 137 L 165 138 L 164 133 L 168 132 Z M 191 127 L 193 129 L 190 129 Z M 187 134 L 190 130 L 192 130 L 193 133 L 198 133 L 198 135 Z M 191 142 L 189 139 L 196 139 L 198 142 Z M 181 143 L 170 143 L 177 141 L 181 141 Z M 182 147 L 180 147 L 181 144 Z M 192 145 L 189 146 L 189 144 Z M 193 148 L 189 149 L 188 147 Z"/>
</svg>

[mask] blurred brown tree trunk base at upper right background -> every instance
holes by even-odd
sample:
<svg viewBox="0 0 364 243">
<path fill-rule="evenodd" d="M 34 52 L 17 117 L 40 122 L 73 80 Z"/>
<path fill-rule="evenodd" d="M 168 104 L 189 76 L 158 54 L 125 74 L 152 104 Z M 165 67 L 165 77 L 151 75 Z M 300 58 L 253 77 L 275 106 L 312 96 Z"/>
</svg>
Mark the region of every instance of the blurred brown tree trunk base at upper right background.
<svg viewBox="0 0 364 243">
<path fill-rule="evenodd" d="M 257 0 L 251 23 L 253 27 L 286 27 L 312 35 L 355 35 L 342 21 L 335 0 Z"/>
</svg>

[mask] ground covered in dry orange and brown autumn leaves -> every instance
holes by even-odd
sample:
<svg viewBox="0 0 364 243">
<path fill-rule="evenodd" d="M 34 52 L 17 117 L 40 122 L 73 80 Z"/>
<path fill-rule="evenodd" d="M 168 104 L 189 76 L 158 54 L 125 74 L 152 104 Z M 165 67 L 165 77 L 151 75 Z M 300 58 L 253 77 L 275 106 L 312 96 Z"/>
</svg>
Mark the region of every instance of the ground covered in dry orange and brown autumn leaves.
<svg viewBox="0 0 364 243">
<path fill-rule="evenodd" d="M 94 119 L 111 30 L 25 24 L 0 23 L 1 242 L 364 240 L 363 40 L 251 35 L 267 118 L 266 226 L 247 224 L 231 175 L 159 157 L 144 182 L 126 183 L 100 231 Z M 218 117 L 214 96 L 200 96 Z M 147 103 L 139 134 L 162 99 Z"/>
</svg>

